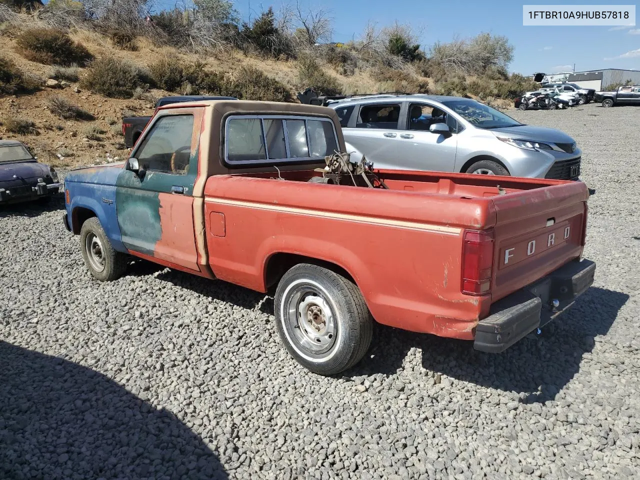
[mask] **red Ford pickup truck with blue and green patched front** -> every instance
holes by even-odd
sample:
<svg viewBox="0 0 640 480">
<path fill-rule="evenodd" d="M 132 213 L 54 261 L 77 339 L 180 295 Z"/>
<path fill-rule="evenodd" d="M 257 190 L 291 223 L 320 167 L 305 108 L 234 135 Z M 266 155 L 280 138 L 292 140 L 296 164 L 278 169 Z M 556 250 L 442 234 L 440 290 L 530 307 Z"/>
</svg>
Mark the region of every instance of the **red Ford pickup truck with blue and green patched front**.
<svg viewBox="0 0 640 480">
<path fill-rule="evenodd" d="M 593 283 L 582 182 L 353 164 L 335 111 L 220 100 L 160 108 L 122 165 L 65 179 L 65 225 L 115 280 L 129 255 L 268 292 L 311 371 L 367 351 L 372 324 L 499 352 Z"/>
</svg>

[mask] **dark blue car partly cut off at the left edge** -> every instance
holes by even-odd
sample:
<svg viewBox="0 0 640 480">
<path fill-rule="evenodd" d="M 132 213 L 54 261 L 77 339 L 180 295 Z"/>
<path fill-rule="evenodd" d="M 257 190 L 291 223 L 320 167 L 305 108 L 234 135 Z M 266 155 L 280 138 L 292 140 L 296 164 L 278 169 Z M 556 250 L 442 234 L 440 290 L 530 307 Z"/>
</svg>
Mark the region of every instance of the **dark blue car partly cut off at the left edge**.
<svg viewBox="0 0 640 480">
<path fill-rule="evenodd" d="M 51 198 L 60 186 L 58 173 L 39 163 L 22 143 L 0 140 L 0 205 Z"/>
</svg>

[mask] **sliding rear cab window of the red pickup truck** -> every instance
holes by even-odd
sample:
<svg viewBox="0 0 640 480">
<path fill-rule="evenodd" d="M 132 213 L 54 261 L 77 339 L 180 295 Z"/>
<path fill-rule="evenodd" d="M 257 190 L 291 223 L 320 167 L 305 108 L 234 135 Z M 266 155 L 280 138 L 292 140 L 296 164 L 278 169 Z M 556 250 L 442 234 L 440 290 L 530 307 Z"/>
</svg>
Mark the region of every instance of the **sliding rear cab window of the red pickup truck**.
<svg viewBox="0 0 640 480">
<path fill-rule="evenodd" d="M 330 118 L 232 115 L 225 120 L 225 162 L 230 166 L 319 161 L 337 149 Z"/>
</svg>

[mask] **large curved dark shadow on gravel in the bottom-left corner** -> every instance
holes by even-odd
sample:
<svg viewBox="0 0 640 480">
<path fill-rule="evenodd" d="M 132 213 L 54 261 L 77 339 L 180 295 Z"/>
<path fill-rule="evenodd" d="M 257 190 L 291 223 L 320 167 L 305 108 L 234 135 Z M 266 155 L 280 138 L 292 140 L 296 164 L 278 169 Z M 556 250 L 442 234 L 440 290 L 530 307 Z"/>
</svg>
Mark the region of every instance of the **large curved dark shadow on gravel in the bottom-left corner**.
<svg viewBox="0 0 640 480">
<path fill-rule="evenodd" d="M 175 415 L 106 376 L 0 341 L 0 478 L 227 479 Z"/>
</svg>

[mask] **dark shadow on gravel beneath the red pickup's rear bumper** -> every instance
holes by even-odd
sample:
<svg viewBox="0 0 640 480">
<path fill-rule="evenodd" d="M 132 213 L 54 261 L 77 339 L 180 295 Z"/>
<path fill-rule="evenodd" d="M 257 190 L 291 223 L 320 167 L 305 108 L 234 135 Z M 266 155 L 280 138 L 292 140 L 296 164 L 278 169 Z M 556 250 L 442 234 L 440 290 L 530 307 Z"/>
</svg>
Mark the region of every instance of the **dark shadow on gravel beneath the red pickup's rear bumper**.
<svg viewBox="0 0 640 480">
<path fill-rule="evenodd" d="M 394 374 L 403 367 L 408 351 L 419 348 L 422 367 L 428 371 L 518 392 L 523 403 L 544 403 L 554 399 L 579 371 L 584 353 L 595 347 L 595 337 L 609 332 L 628 298 L 621 292 L 591 287 L 557 319 L 553 335 L 525 337 L 499 354 L 476 351 L 472 342 L 464 340 L 379 326 L 365 360 L 345 374 Z"/>
</svg>

